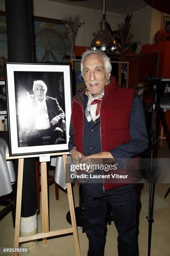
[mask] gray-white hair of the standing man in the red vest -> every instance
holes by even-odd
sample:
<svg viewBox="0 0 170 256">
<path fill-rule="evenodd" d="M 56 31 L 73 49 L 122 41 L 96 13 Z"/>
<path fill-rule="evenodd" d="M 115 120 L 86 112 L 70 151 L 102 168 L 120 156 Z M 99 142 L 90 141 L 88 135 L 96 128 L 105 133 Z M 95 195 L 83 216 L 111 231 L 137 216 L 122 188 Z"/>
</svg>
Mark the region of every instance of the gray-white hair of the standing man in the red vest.
<svg viewBox="0 0 170 256">
<path fill-rule="evenodd" d="M 108 74 L 112 71 L 112 65 L 111 65 L 111 62 L 110 62 L 110 58 L 103 51 L 87 50 L 82 54 L 82 59 L 81 59 L 82 77 L 83 77 L 83 62 L 88 56 L 90 56 L 92 54 L 98 55 L 102 58 L 102 60 L 104 62 L 104 65 L 105 65 L 105 69 L 106 69 L 106 76 L 108 76 Z"/>
</svg>

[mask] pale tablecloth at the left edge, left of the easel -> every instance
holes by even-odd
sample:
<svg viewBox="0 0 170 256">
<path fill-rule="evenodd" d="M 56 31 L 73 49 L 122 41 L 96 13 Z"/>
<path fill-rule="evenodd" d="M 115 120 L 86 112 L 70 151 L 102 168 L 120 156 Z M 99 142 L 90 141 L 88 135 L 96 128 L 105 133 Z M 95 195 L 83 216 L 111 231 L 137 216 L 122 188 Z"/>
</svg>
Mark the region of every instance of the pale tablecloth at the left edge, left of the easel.
<svg viewBox="0 0 170 256">
<path fill-rule="evenodd" d="M 7 153 L 9 153 L 7 143 L 0 138 L 0 196 L 11 193 L 12 184 L 15 182 L 13 162 L 5 159 Z"/>
</svg>

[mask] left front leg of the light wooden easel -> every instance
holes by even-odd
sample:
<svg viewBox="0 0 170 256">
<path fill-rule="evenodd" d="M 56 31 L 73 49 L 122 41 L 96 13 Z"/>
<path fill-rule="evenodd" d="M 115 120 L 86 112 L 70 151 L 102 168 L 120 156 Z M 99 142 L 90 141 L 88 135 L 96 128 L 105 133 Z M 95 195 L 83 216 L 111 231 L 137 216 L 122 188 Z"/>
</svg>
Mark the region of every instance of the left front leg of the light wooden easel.
<svg viewBox="0 0 170 256">
<path fill-rule="evenodd" d="M 18 160 L 17 203 L 16 203 L 15 237 L 14 237 L 15 248 L 19 248 L 19 238 L 20 238 L 21 200 L 22 200 L 22 189 L 23 189 L 23 166 L 24 166 L 24 159 L 22 158 Z M 18 252 L 15 252 L 14 255 L 18 256 Z"/>
</svg>

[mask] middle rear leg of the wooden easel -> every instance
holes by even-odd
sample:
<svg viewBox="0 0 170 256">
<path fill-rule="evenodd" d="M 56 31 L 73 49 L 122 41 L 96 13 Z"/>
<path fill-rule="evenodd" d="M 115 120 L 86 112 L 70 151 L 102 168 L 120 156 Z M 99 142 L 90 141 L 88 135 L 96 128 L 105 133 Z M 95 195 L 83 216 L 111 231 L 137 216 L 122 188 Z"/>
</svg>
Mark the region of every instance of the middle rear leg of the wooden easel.
<svg viewBox="0 0 170 256">
<path fill-rule="evenodd" d="M 41 163 L 41 201 L 42 201 L 42 232 L 49 232 L 48 194 L 47 194 L 47 163 Z M 42 238 L 42 244 L 47 244 L 47 238 Z"/>
</svg>

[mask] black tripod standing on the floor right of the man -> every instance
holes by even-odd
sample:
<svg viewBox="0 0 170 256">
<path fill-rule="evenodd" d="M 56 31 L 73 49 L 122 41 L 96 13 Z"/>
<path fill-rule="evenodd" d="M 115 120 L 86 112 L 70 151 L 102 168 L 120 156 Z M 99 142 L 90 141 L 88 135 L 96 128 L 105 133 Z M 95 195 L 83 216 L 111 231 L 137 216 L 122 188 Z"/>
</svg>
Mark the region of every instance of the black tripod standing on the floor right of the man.
<svg viewBox="0 0 170 256">
<path fill-rule="evenodd" d="M 153 148 L 154 148 L 154 142 L 155 142 L 155 131 L 156 131 L 156 125 L 155 125 L 155 117 L 156 113 L 158 113 L 160 117 L 161 124 L 163 126 L 163 131 L 166 137 L 166 141 L 168 144 L 168 148 L 170 150 L 170 141 L 169 141 L 169 134 L 167 132 L 166 128 L 166 122 L 163 110 L 160 108 L 159 100 L 157 98 L 157 90 L 158 90 L 158 84 L 160 84 L 162 78 L 149 78 L 149 81 L 152 82 L 153 86 L 153 102 L 152 102 L 152 116 L 151 116 L 151 148 L 150 148 L 150 154 L 151 154 L 151 164 L 150 164 L 150 170 L 149 170 L 149 178 L 150 178 L 150 185 L 149 185 L 149 213 L 147 215 L 148 223 L 149 223 L 149 229 L 148 229 L 148 256 L 150 256 L 150 248 L 151 248 L 151 236 L 152 236 L 152 223 L 153 223 Z"/>
</svg>

